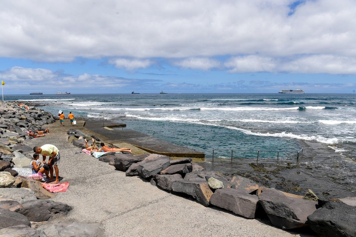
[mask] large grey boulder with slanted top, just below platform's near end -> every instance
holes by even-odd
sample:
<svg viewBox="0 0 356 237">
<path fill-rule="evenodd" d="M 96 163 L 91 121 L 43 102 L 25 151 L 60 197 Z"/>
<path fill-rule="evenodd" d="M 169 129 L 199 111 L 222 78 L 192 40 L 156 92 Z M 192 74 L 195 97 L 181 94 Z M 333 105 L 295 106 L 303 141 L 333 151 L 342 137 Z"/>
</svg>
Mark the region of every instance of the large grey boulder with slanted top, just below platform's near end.
<svg viewBox="0 0 356 237">
<path fill-rule="evenodd" d="M 169 161 L 169 157 L 162 157 L 154 161 L 141 163 L 137 167 L 138 175 L 145 179 L 152 178 L 154 174 L 158 174 L 162 170 L 166 169 L 170 165 Z"/>
</svg>

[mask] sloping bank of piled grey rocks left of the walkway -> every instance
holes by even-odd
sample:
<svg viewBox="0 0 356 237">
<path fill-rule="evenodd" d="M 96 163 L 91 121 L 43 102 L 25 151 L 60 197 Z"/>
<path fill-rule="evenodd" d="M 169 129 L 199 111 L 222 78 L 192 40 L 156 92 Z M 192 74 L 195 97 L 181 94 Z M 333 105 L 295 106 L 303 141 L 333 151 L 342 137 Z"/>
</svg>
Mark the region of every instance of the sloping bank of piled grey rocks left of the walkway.
<svg viewBox="0 0 356 237">
<path fill-rule="evenodd" d="M 19 176 L 15 170 L 21 173 L 30 165 L 33 147 L 28 141 L 32 137 L 26 131 L 43 130 L 43 125 L 55 122 L 51 113 L 29 108 L 23 110 L 12 102 L 0 104 L 0 236 L 101 236 L 99 223 L 52 223 L 72 208 L 50 200 L 54 194 L 41 182 Z"/>
</svg>

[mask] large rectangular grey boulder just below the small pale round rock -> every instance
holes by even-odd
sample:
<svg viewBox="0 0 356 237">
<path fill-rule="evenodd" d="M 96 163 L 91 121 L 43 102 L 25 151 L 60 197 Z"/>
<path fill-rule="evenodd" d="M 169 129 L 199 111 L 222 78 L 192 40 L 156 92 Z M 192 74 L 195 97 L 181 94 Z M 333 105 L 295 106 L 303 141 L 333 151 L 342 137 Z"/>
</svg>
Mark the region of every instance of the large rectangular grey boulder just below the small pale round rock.
<svg viewBox="0 0 356 237">
<path fill-rule="evenodd" d="M 255 218 L 257 202 L 256 195 L 232 188 L 217 189 L 210 198 L 212 205 L 250 219 Z"/>
</svg>

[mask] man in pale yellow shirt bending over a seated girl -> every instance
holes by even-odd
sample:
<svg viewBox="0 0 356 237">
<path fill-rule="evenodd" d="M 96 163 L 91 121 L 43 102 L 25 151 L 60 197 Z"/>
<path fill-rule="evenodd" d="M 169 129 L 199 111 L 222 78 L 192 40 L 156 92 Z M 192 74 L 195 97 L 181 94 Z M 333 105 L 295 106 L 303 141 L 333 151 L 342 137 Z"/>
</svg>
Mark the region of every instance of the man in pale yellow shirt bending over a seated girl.
<svg viewBox="0 0 356 237">
<path fill-rule="evenodd" d="M 53 167 L 54 171 L 56 172 L 56 181 L 54 183 L 59 183 L 59 170 L 58 165 L 61 159 L 61 155 L 59 154 L 59 150 L 56 146 L 52 144 L 46 144 L 41 147 L 35 146 L 33 147 L 33 151 L 37 154 L 41 154 L 43 157 L 43 164 L 46 164 L 46 156 L 49 156 L 48 165 L 49 165 L 49 173 L 50 178 L 48 182 L 53 182 Z"/>
</svg>

